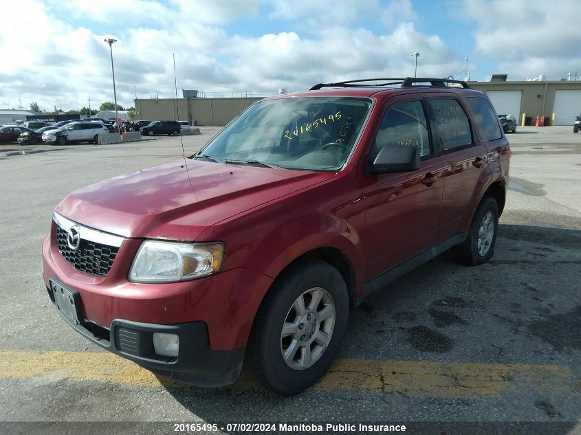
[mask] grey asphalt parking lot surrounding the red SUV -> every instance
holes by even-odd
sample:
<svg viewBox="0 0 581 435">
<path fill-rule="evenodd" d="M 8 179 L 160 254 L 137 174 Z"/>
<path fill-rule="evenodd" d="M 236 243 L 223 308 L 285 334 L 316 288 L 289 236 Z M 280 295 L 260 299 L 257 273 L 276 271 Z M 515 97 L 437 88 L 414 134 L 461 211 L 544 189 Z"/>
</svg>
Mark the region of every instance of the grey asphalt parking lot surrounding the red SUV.
<svg viewBox="0 0 581 435">
<path fill-rule="evenodd" d="M 185 155 L 217 131 L 184 136 Z M 92 433 L 76 423 L 6 423 L 56 421 L 206 421 L 226 433 L 241 433 L 224 425 L 240 422 L 384 422 L 408 424 L 410 433 L 420 433 L 414 424 L 430 433 L 479 422 L 483 433 L 581 433 L 581 134 L 519 127 L 508 137 L 511 185 L 494 258 L 465 267 L 443 254 L 370 296 L 351 311 L 331 372 L 290 398 L 245 375 L 214 389 L 158 379 L 72 331 L 46 294 L 40 245 L 56 203 L 90 183 L 182 158 L 179 137 L 1 145 L 0 433 Z M 171 423 L 140 428 L 179 433 Z"/>
</svg>

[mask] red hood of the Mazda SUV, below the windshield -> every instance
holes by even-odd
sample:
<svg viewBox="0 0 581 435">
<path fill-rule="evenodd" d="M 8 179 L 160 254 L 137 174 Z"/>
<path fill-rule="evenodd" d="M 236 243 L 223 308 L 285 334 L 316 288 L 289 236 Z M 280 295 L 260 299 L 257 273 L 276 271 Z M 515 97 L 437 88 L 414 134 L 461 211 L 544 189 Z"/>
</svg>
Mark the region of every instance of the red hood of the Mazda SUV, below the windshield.
<svg viewBox="0 0 581 435">
<path fill-rule="evenodd" d="M 186 170 L 179 160 L 76 190 L 56 212 L 124 237 L 194 241 L 219 221 L 334 175 L 190 159 Z"/>
</svg>

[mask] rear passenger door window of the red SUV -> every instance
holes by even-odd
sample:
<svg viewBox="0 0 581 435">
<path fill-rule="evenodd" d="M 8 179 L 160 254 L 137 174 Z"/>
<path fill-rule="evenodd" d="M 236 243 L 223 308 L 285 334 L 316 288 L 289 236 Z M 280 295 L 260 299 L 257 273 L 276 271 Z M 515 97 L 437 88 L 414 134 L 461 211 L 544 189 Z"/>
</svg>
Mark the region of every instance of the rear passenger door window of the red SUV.
<svg viewBox="0 0 581 435">
<path fill-rule="evenodd" d="M 452 98 L 431 101 L 442 149 L 452 150 L 472 144 L 470 122 L 460 104 Z"/>
</svg>

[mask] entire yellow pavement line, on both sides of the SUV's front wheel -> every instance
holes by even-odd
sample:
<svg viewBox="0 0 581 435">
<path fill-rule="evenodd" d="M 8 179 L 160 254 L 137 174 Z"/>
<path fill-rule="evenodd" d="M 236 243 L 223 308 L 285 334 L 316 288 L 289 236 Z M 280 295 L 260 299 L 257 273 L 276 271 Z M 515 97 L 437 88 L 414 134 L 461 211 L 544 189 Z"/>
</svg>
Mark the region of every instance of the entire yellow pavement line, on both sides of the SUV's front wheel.
<svg viewBox="0 0 581 435">
<path fill-rule="evenodd" d="M 183 386 L 111 353 L 0 350 L 0 378 L 98 381 L 121 386 Z M 253 388 L 242 377 L 233 388 Z M 187 386 L 184 386 L 187 388 Z M 581 381 L 555 365 L 339 359 L 318 390 L 360 390 L 409 397 L 488 397 L 531 388 L 575 393 Z"/>
</svg>

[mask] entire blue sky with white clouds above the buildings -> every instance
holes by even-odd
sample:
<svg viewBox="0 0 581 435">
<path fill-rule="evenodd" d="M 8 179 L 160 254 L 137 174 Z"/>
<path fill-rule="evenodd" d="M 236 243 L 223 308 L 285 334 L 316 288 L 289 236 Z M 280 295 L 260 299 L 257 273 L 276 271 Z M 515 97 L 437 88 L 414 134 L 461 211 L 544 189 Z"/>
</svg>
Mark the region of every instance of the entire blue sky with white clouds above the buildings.
<svg viewBox="0 0 581 435">
<path fill-rule="evenodd" d="M 559 80 L 578 71 L 578 0 L 0 0 L 0 109 L 67 111 L 417 76 Z M 10 18 L 12 17 L 12 19 Z M 465 58 L 468 57 L 468 68 Z"/>
</svg>

